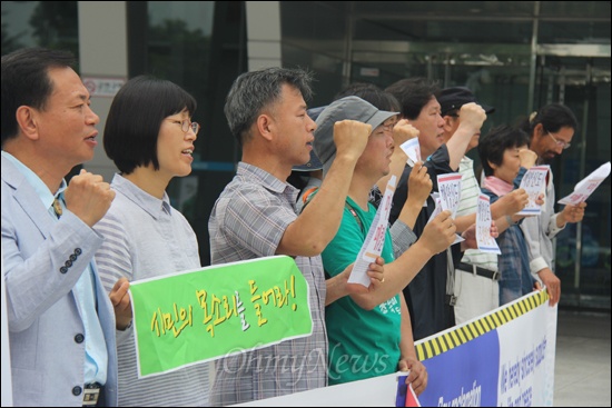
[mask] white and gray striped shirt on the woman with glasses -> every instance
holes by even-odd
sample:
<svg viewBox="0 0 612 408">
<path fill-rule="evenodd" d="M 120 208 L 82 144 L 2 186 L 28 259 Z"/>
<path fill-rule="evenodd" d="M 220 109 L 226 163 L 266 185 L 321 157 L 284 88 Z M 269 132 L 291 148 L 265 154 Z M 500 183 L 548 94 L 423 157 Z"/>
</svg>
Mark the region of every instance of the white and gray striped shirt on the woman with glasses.
<svg viewBox="0 0 612 408">
<path fill-rule="evenodd" d="M 120 277 L 129 281 L 200 267 L 196 235 L 185 217 L 131 181 L 116 175 L 117 196 L 95 226 L 105 237 L 96 253 L 100 278 L 110 292 Z M 207 364 L 138 379 L 134 330 L 117 331 L 120 407 L 208 406 Z"/>
</svg>

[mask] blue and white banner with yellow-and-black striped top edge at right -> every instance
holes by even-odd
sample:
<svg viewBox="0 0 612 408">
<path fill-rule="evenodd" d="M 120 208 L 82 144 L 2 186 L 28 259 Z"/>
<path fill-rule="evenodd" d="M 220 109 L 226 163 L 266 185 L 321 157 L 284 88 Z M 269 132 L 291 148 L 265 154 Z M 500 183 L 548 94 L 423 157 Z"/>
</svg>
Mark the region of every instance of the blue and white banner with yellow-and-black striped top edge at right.
<svg viewBox="0 0 612 408">
<path fill-rule="evenodd" d="M 556 307 L 535 291 L 416 342 L 424 407 L 552 406 Z"/>
</svg>

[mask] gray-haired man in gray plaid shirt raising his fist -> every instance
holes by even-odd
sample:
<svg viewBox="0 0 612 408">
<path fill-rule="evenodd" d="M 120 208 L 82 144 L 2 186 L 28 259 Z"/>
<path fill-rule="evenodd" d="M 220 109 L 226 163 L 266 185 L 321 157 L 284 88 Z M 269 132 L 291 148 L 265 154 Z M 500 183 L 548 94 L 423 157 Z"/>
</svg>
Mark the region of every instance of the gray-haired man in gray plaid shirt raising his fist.
<svg viewBox="0 0 612 408">
<path fill-rule="evenodd" d="M 287 177 L 294 166 L 310 159 L 317 128 L 307 115 L 310 81 L 312 76 L 304 70 L 261 69 L 239 76 L 226 99 L 225 116 L 243 157 L 210 213 L 211 262 L 292 256 L 308 282 L 313 332 L 217 360 L 213 405 L 260 400 L 327 385 L 325 306 L 351 293 L 355 286 L 347 285 L 352 266 L 326 280 L 320 252 L 338 230 L 355 165 L 372 127 L 352 120 L 335 125 L 334 162 L 327 163 L 327 176 L 317 195 L 297 215 L 299 190 L 287 183 Z M 361 286 L 358 291 L 385 285 L 383 268 L 376 262 L 368 268 L 373 288 Z"/>
</svg>

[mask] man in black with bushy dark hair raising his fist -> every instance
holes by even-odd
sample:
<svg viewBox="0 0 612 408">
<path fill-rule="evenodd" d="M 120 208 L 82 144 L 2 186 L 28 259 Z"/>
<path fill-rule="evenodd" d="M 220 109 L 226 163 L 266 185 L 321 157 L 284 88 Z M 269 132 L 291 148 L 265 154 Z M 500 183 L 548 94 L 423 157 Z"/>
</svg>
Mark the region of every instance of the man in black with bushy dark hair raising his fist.
<svg viewBox="0 0 612 408">
<path fill-rule="evenodd" d="M 437 177 L 457 171 L 472 136 L 480 131 L 486 119 L 484 109 L 474 102 L 463 105 L 460 109 L 461 123 L 454 136 L 444 143 L 444 119 L 435 97 L 440 89 L 434 82 L 425 78 L 402 79 L 386 88 L 386 91 L 399 101 L 402 119 L 418 130 L 421 157 L 432 179 L 433 191 L 438 192 Z M 392 223 L 396 221 L 407 199 L 409 186 L 406 180 L 412 171 L 413 168 L 406 166 L 397 183 L 389 216 Z M 427 205 L 422 207 L 415 222 L 414 232 L 417 236 L 422 233 L 435 208 L 435 199 L 427 198 Z M 455 326 L 453 265 L 458 263 L 460 259 L 461 247 L 453 245 L 446 252 L 432 257 L 424 270 L 404 288 L 415 340 Z"/>
</svg>

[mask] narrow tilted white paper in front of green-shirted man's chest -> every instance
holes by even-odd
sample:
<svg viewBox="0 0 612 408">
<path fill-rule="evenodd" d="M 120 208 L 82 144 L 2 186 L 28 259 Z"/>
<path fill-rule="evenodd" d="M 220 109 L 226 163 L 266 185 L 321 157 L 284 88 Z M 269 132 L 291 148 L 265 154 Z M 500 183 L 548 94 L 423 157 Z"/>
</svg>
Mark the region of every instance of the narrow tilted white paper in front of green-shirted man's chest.
<svg viewBox="0 0 612 408">
<path fill-rule="evenodd" d="M 374 216 L 374 221 L 367 231 L 362 249 L 357 255 L 355 265 L 353 266 L 353 271 L 348 277 L 348 283 L 359 283 L 369 287 L 369 277 L 367 276 L 367 269 L 369 263 L 376 261 L 376 258 L 383 252 L 383 246 L 385 245 L 385 235 L 388 227 L 388 215 L 391 212 L 391 205 L 393 202 L 393 193 L 395 192 L 395 185 L 397 183 L 397 177 L 392 176 L 387 182 L 387 188 L 381 203 L 378 205 L 378 210 L 376 216 Z"/>
</svg>

